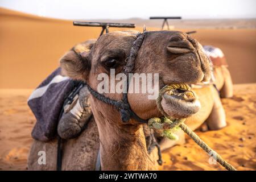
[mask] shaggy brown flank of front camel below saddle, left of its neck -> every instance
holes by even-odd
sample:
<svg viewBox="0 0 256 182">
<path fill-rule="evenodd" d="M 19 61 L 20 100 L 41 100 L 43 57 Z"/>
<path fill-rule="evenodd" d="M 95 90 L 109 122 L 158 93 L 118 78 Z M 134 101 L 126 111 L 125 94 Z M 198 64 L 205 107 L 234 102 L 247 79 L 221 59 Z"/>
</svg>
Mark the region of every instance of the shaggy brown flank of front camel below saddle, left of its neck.
<svg viewBox="0 0 256 182">
<path fill-rule="evenodd" d="M 98 129 L 94 119 L 90 119 L 88 126 L 75 139 L 63 142 L 63 170 L 94 170 L 100 142 Z M 38 152 L 46 152 L 46 165 L 38 164 Z M 51 142 L 35 140 L 28 156 L 29 170 L 56 170 L 57 139 Z"/>
</svg>

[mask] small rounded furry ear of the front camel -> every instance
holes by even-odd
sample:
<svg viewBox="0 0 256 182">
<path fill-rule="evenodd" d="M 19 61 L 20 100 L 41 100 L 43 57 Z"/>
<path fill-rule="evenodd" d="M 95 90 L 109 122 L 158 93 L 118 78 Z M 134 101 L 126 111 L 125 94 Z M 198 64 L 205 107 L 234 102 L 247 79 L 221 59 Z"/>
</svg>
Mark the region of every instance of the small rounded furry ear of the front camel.
<svg viewBox="0 0 256 182">
<path fill-rule="evenodd" d="M 74 80 L 85 81 L 90 72 L 90 60 L 88 55 L 96 40 L 88 40 L 77 44 L 60 59 L 60 67 L 63 75 Z"/>
</svg>

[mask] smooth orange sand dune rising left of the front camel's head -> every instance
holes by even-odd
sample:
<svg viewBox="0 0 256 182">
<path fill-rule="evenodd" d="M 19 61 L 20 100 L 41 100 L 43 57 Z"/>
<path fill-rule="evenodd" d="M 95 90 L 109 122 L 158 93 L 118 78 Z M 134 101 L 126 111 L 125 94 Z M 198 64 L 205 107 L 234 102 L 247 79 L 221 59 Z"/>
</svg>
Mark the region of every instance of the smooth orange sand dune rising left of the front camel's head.
<svg viewBox="0 0 256 182">
<path fill-rule="evenodd" d="M 98 38 L 100 31 L 100 27 L 76 27 L 72 21 L 0 9 L 0 88 L 35 88 L 58 67 L 66 51 Z"/>
</svg>

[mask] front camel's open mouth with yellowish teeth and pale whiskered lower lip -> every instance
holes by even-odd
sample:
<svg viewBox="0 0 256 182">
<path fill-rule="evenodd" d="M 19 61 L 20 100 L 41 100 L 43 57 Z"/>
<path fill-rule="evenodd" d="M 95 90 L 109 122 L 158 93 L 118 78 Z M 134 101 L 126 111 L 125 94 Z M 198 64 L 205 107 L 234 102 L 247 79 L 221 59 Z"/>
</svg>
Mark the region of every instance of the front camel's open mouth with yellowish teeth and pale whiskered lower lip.
<svg viewBox="0 0 256 182">
<path fill-rule="evenodd" d="M 162 89 L 163 110 L 172 118 L 187 118 L 200 109 L 195 92 L 187 84 L 171 84 Z"/>
</svg>

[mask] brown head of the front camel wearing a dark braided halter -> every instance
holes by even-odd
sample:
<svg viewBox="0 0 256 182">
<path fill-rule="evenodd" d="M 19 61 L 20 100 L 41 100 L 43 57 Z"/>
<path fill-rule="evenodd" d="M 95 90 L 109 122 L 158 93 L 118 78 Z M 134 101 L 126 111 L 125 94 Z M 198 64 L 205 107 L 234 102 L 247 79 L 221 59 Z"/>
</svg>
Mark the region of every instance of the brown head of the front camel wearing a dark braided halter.
<svg viewBox="0 0 256 182">
<path fill-rule="evenodd" d="M 110 77 L 113 70 L 115 75 L 122 73 L 137 34 L 137 31 L 114 31 L 102 35 L 96 42 L 90 42 L 88 51 L 81 54 L 82 59 L 73 51 L 69 51 L 60 60 L 61 68 L 67 76 L 86 81 L 91 88 L 98 91 L 98 84 L 102 81 L 98 80 L 98 75 L 104 73 Z M 165 85 L 176 84 L 175 88 L 163 94 L 162 108 L 171 117 L 186 118 L 199 111 L 200 102 L 192 90 L 184 87 L 208 81 L 210 69 L 202 46 L 188 34 L 179 31 L 150 31 L 144 36 L 135 59 L 133 73 L 151 73 L 152 87 L 155 86 L 157 91 Z M 154 75 L 157 74 L 156 81 Z M 115 80 L 114 86 L 117 84 L 118 81 Z M 110 87 L 109 82 L 109 92 L 104 95 L 113 100 L 121 100 L 122 93 L 111 92 Z M 156 101 L 148 99 L 150 92 L 130 92 L 136 87 L 138 85 L 129 85 L 128 100 L 131 109 L 143 119 L 162 115 Z M 139 87 L 142 88 L 141 85 Z M 112 115 L 113 118 L 115 115 L 119 118 L 114 107 L 95 98 L 92 102 L 97 104 L 97 110 L 100 110 L 101 115 Z"/>
</svg>

